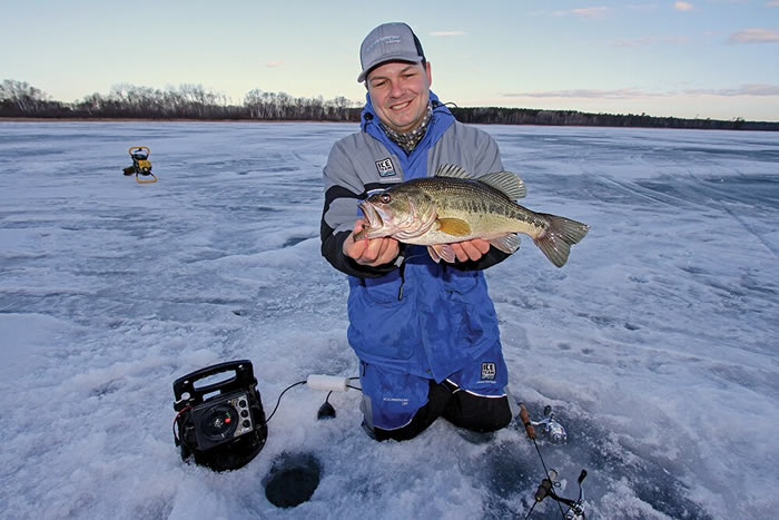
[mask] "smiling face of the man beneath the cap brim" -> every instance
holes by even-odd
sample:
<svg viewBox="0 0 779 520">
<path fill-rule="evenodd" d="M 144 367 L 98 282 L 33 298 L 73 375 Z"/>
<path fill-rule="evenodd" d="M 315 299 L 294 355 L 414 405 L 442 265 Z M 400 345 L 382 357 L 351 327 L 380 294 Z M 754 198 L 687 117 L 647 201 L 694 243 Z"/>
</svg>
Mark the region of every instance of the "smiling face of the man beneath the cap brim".
<svg viewBox="0 0 779 520">
<path fill-rule="evenodd" d="M 368 95 L 382 122 L 400 134 L 413 130 L 427 114 L 430 63 L 388 62 L 367 78 Z"/>
</svg>

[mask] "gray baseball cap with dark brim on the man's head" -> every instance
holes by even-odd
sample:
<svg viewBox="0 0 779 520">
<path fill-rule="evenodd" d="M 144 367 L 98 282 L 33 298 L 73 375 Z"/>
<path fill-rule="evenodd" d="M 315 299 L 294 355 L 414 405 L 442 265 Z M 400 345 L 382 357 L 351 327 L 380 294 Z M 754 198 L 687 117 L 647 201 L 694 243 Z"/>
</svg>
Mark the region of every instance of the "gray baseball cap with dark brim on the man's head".
<svg viewBox="0 0 779 520">
<path fill-rule="evenodd" d="M 357 82 L 365 81 L 371 69 L 387 61 L 421 63 L 425 59 L 420 39 L 405 23 L 382 23 L 365 37 L 359 47 L 359 62 L 363 71 Z"/>
</svg>

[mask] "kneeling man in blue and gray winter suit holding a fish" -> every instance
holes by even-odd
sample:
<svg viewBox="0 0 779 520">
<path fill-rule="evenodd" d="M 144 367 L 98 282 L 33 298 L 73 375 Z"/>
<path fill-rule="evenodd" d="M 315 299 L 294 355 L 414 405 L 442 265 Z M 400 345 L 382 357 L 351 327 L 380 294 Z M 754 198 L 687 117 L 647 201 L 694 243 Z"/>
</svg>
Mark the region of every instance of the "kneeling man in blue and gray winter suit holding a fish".
<svg viewBox="0 0 779 520">
<path fill-rule="evenodd" d="M 506 258 L 487 242 L 452 244 L 454 264 L 394 238 L 354 241 L 357 203 L 454 164 L 501 171 L 497 146 L 454 119 L 431 92 L 431 65 L 405 23 L 378 26 L 361 47 L 367 102 L 361 130 L 337 141 L 324 169 L 322 254 L 349 282 L 348 341 L 361 361 L 363 426 L 406 440 L 438 416 L 486 432 L 513 416 L 495 310 L 482 269 Z"/>
</svg>

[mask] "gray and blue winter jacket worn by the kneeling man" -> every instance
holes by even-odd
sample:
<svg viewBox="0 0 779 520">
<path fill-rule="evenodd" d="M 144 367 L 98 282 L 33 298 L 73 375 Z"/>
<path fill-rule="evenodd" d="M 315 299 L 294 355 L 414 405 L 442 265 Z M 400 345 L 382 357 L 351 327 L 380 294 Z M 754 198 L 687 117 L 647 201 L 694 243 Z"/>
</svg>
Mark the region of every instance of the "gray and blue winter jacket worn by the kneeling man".
<svg viewBox="0 0 779 520">
<path fill-rule="evenodd" d="M 342 249 L 361 216 L 357 204 L 373 190 L 432 176 L 444 164 L 474 176 L 503 169 L 492 137 L 456 121 L 433 92 L 426 134 L 407 155 L 382 130 L 367 98 L 362 131 L 338 140 L 324 169 L 322 254 L 348 275 L 347 336 L 357 356 L 441 382 L 499 342 L 482 269 L 507 255 L 492 247 L 477 262 L 436 264 L 425 247 L 401 244 L 394 263 L 368 267 Z"/>
</svg>

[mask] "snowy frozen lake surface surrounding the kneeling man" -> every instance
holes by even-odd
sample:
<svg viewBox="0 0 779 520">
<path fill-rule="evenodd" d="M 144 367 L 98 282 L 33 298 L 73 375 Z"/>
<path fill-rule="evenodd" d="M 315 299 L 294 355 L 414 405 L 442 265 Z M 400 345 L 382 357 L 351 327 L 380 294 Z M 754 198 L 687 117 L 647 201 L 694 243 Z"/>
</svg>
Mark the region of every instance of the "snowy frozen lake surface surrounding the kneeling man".
<svg viewBox="0 0 779 520">
<path fill-rule="evenodd" d="M 485 126 L 527 207 L 592 226 L 562 269 L 525 239 L 487 271 L 511 390 L 589 518 L 772 518 L 779 507 L 776 134 Z M 376 443 L 359 394 L 287 392 L 247 467 L 174 447 L 171 383 L 254 362 L 266 410 L 353 376 L 346 281 L 319 255 L 344 124 L 0 122 L 2 518 L 524 518 L 543 470 L 514 429 L 436 422 Z M 159 181 L 121 175 L 151 148 Z M 262 481 L 315 454 L 313 499 Z M 532 518 L 559 518 L 544 501 Z"/>
</svg>

